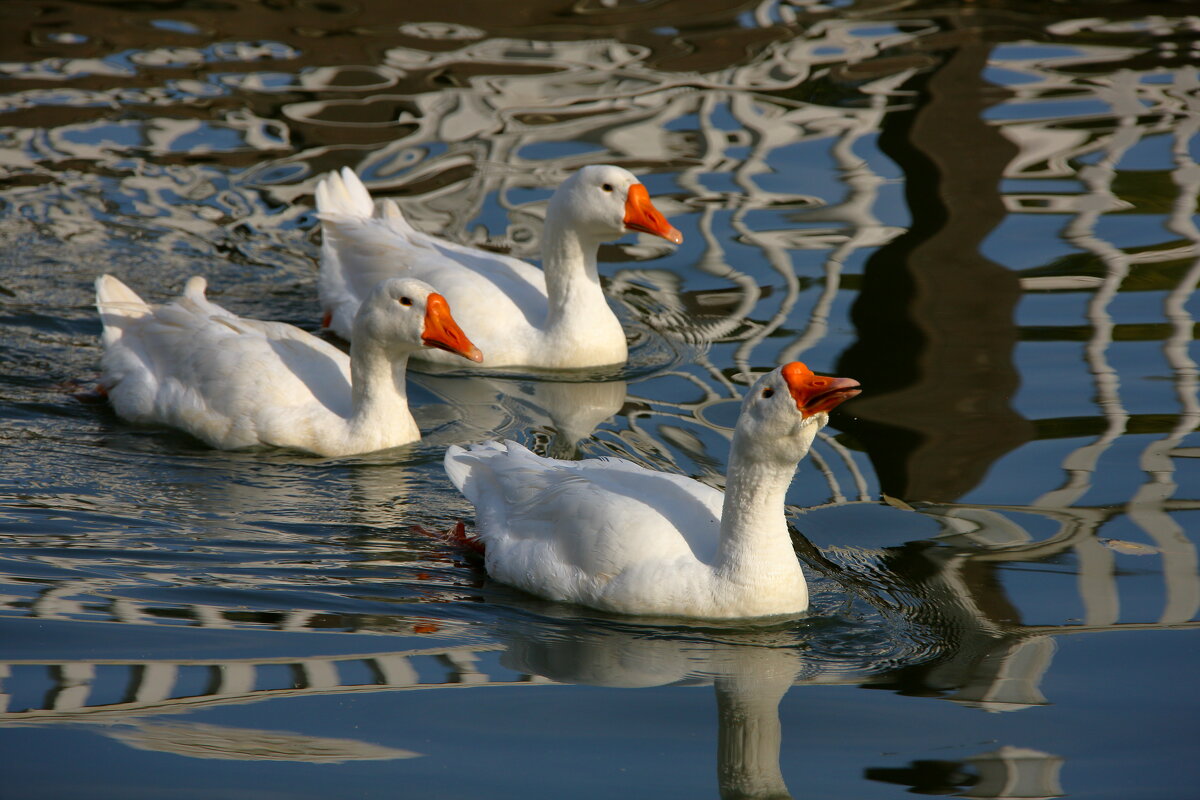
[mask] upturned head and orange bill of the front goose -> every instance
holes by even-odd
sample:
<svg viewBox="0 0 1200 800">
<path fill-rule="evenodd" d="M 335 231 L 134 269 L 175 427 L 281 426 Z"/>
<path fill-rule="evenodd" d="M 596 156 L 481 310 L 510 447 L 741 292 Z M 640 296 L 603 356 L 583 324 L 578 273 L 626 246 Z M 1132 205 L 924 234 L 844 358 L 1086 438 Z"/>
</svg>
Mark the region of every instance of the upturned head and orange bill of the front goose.
<svg viewBox="0 0 1200 800">
<path fill-rule="evenodd" d="M 852 378 L 816 375 L 799 361 L 772 369 L 742 401 L 734 447 L 758 462 L 794 467 L 828 425 L 829 411 L 860 391 Z"/>
</svg>

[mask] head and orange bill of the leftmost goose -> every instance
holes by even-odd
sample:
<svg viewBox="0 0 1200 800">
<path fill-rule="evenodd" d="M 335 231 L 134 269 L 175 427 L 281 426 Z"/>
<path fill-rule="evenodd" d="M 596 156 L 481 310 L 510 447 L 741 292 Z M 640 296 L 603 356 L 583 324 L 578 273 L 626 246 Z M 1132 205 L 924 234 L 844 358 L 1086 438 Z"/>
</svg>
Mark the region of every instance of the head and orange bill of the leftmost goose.
<svg viewBox="0 0 1200 800">
<path fill-rule="evenodd" d="M 389 278 L 371 290 L 354 318 L 354 341 L 374 342 L 396 353 L 424 345 L 484 360 L 450 314 L 446 299 L 415 278 Z"/>
</svg>

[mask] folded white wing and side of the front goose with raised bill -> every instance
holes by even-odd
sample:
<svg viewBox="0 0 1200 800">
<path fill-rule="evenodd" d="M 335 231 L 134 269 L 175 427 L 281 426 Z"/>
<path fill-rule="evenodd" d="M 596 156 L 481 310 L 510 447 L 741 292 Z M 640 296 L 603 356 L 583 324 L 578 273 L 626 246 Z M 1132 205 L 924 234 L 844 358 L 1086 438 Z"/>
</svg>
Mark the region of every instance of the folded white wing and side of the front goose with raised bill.
<svg viewBox="0 0 1200 800">
<path fill-rule="evenodd" d="M 576 600 L 629 571 L 710 563 L 722 495 L 623 459 L 541 458 L 491 443 L 446 452 L 475 505 L 488 571 L 538 594 Z"/>
</svg>

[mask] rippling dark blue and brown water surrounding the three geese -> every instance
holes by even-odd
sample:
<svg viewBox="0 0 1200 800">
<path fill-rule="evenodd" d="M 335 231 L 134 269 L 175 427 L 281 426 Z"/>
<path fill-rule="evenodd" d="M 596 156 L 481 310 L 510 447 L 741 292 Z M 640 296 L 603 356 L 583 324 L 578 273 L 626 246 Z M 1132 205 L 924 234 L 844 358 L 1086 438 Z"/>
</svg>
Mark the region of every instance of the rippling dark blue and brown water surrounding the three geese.
<svg viewBox="0 0 1200 800">
<path fill-rule="evenodd" d="M 444 5 L 0 6 L 0 795 L 1194 794 L 1195 10 Z M 335 461 L 70 396 L 104 271 L 316 330 L 330 169 L 535 259 L 588 163 L 685 236 L 601 253 L 618 373 L 414 375 L 425 439 Z M 490 435 L 720 486 L 793 359 L 866 389 L 790 495 L 804 619 L 540 603 L 410 530 Z"/>
</svg>

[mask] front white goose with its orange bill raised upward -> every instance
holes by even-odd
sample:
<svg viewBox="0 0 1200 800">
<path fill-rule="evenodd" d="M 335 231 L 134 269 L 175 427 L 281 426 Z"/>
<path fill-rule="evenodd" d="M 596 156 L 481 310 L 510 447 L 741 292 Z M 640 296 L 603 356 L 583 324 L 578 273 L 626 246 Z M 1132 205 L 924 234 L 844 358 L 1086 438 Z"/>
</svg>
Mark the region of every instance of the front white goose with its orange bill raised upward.
<svg viewBox="0 0 1200 800">
<path fill-rule="evenodd" d="M 624 614 L 733 619 L 803 612 L 784 499 L 796 467 L 858 381 L 794 361 L 758 379 L 733 432 L 725 494 L 618 458 L 541 458 L 521 445 L 452 446 L 445 468 L 475 505 L 493 578 Z M 452 535 L 454 536 L 454 535 Z"/>
</svg>

